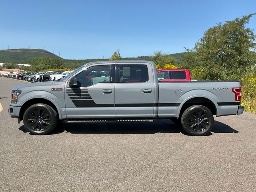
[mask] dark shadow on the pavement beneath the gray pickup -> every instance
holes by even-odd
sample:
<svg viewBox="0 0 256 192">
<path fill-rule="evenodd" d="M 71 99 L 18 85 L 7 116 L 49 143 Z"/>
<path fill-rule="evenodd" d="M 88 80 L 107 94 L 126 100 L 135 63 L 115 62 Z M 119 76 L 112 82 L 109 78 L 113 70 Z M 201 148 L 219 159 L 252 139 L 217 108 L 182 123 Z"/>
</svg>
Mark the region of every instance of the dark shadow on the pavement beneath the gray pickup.
<svg viewBox="0 0 256 192">
<path fill-rule="evenodd" d="M 23 132 L 28 132 L 24 125 L 19 128 Z M 156 133 L 182 133 L 188 135 L 180 126 L 171 120 L 154 120 L 150 122 L 100 122 L 100 123 L 60 123 L 50 134 L 60 134 L 62 132 L 72 134 L 156 134 Z M 214 133 L 238 133 L 230 126 L 214 121 L 212 131 Z M 212 135 L 212 133 L 206 136 Z"/>
</svg>

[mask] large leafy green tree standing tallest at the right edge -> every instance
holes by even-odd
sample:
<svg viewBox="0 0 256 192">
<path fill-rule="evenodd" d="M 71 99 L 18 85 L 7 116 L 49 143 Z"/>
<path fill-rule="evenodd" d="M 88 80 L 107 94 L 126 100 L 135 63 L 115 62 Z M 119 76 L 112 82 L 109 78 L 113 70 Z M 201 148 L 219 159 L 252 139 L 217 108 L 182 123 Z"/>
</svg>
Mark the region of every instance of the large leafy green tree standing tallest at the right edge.
<svg viewBox="0 0 256 192">
<path fill-rule="evenodd" d="M 209 79 L 224 79 L 251 68 L 256 62 L 256 43 L 253 31 L 246 28 L 254 14 L 218 23 L 208 29 L 192 50 L 182 59 L 187 68 L 206 68 Z"/>
</svg>

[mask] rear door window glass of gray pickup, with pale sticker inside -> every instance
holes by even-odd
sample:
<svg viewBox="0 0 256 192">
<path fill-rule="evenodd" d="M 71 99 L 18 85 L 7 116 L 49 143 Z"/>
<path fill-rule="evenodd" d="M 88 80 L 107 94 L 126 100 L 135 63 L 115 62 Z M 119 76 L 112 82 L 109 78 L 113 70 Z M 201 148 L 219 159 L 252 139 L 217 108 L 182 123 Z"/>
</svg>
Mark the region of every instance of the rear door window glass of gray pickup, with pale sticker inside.
<svg viewBox="0 0 256 192">
<path fill-rule="evenodd" d="M 148 81 L 148 67 L 146 65 L 120 65 L 121 83 L 135 83 Z"/>
</svg>

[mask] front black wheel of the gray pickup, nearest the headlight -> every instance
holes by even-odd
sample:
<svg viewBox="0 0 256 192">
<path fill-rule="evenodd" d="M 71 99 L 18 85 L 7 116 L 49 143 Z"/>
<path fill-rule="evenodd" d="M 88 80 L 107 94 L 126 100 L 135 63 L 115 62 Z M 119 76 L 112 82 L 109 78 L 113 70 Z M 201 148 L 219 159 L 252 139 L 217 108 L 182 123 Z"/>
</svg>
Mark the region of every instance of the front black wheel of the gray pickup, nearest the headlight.
<svg viewBox="0 0 256 192">
<path fill-rule="evenodd" d="M 38 103 L 30 106 L 25 111 L 23 122 L 26 130 L 31 134 L 46 135 L 56 128 L 58 124 L 57 117 L 57 112 L 51 106 Z"/>
</svg>

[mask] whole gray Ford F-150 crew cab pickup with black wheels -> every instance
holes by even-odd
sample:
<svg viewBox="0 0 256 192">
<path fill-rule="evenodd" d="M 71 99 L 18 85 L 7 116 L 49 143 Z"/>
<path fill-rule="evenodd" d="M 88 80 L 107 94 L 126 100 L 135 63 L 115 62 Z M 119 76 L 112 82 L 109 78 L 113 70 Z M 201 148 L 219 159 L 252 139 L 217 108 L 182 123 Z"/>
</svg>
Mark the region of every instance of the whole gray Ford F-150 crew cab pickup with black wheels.
<svg viewBox="0 0 256 192">
<path fill-rule="evenodd" d="M 158 82 L 149 61 L 90 62 L 60 81 L 14 86 L 9 113 L 36 135 L 59 121 L 152 122 L 171 119 L 190 135 L 213 127 L 213 115 L 242 114 L 238 81 Z"/>
</svg>

